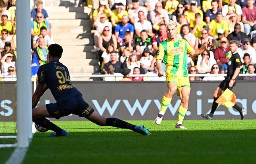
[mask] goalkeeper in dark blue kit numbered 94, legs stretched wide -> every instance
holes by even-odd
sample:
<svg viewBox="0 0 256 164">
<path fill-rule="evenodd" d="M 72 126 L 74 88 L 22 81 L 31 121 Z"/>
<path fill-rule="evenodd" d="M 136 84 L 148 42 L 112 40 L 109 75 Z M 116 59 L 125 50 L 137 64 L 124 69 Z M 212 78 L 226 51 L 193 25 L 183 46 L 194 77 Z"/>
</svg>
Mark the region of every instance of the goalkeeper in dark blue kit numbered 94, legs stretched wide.
<svg viewBox="0 0 256 164">
<path fill-rule="evenodd" d="M 61 129 L 45 117 L 59 119 L 69 114 L 76 114 L 100 126 L 131 129 L 143 135 L 150 135 L 149 130 L 143 125 L 136 126 L 118 118 L 104 118 L 99 115 L 84 101 L 82 94 L 72 86 L 67 67 L 59 62 L 63 52 L 62 47 L 59 44 L 51 44 L 48 50 L 49 63 L 40 66 L 37 73 L 38 85 L 32 97 L 33 122 L 46 129 L 53 130 L 54 132 L 50 133 L 50 136 L 68 136 L 66 130 Z M 35 108 L 40 97 L 48 88 L 52 92 L 56 103 Z"/>
</svg>

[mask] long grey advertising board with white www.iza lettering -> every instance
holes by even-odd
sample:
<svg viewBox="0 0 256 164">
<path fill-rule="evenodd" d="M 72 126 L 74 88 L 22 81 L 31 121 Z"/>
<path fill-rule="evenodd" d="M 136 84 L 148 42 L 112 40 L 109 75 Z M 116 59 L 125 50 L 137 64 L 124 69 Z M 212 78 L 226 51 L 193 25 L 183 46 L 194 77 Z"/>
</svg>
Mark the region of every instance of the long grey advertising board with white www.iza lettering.
<svg viewBox="0 0 256 164">
<path fill-rule="evenodd" d="M 186 120 L 200 120 L 201 113 L 208 113 L 213 101 L 212 94 L 220 82 L 191 82 L 191 94 Z M 163 93 L 166 91 L 165 82 L 73 82 L 85 101 L 104 117 L 117 117 L 124 120 L 154 120 L 161 106 Z M 13 87 L 5 82 L 5 87 Z M 3 83 L 0 83 L 0 88 Z M 245 119 L 256 118 L 256 81 L 241 81 L 233 89 L 237 96 L 238 105 L 245 108 Z M 0 115 L 8 112 L 14 106 L 5 93 L 5 99 L 0 97 Z M 41 97 L 39 105 L 56 102 L 50 93 Z M 4 107 L 5 105 L 5 107 Z M 180 99 L 175 95 L 166 111 L 164 120 L 176 120 Z M 5 109 L 4 109 L 4 108 Z M 5 120 L 8 120 L 8 117 Z M 215 119 L 240 119 L 236 110 L 219 106 L 215 112 Z M 0 117 L 0 121 L 3 117 Z M 54 119 L 53 119 L 54 120 Z M 74 114 L 60 120 L 86 120 Z"/>
</svg>

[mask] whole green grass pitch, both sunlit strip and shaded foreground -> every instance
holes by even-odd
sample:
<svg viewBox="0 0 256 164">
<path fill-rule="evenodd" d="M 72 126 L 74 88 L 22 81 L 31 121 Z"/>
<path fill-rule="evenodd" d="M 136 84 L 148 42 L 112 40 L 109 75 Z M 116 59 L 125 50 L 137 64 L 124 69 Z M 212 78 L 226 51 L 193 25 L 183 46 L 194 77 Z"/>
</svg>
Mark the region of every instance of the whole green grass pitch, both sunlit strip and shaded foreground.
<svg viewBox="0 0 256 164">
<path fill-rule="evenodd" d="M 128 121 L 143 124 L 150 136 L 97 126 L 89 121 L 55 122 L 68 137 L 35 133 L 23 164 L 252 164 L 256 163 L 256 120 Z M 0 149 L 0 163 L 14 148 Z"/>
</svg>

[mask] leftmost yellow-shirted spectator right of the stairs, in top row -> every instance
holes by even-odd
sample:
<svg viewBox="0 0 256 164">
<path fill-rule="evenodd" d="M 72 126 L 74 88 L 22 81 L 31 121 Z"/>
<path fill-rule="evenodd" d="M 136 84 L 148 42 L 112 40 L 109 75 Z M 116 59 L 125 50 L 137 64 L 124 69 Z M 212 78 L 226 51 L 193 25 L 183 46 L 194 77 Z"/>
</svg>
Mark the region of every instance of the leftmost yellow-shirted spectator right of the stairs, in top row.
<svg viewBox="0 0 256 164">
<path fill-rule="evenodd" d="M 102 13 L 105 13 L 107 15 L 107 18 L 111 17 L 113 15 L 111 9 L 109 8 L 109 4 L 106 1 L 99 1 L 100 5 L 98 9 L 95 9 L 93 11 L 93 20 L 95 21 L 100 21 L 99 17 L 101 16 Z"/>
</svg>

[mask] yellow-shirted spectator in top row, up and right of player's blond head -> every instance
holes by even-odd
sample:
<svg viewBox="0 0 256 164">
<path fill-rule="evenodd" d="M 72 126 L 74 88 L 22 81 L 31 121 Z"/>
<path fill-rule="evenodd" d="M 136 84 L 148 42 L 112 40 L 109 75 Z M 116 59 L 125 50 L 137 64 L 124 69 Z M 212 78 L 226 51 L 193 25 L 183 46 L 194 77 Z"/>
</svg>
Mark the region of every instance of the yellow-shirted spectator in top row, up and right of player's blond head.
<svg viewBox="0 0 256 164">
<path fill-rule="evenodd" d="M 197 1 L 192 0 L 191 1 L 191 7 L 189 10 L 185 12 L 185 16 L 187 19 L 188 24 L 192 23 L 196 20 L 195 14 L 198 12 L 200 13 L 202 19 L 203 19 L 203 11 L 197 8 Z"/>
</svg>

